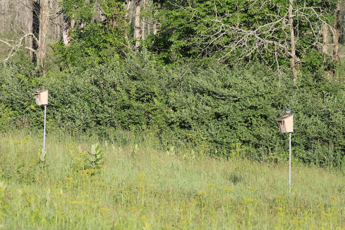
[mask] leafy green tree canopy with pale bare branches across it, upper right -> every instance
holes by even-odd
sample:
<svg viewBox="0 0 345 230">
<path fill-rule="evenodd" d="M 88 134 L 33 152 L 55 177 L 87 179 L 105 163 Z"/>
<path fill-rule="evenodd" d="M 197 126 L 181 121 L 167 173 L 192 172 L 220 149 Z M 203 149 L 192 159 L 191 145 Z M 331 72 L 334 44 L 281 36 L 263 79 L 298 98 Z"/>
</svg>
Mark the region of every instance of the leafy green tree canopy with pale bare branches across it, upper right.
<svg viewBox="0 0 345 230">
<path fill-rule="evenodd" d="M 289 66 L 296 79 L 298 68 L 329 64 L 318 47 L 321 25 L 332 24 L 334 9 L 330 0 L 165 1 L 156 41 L 164 37 L 183 56 L 229 63 L 258 58 L 277 70 Z"/>
</svg>

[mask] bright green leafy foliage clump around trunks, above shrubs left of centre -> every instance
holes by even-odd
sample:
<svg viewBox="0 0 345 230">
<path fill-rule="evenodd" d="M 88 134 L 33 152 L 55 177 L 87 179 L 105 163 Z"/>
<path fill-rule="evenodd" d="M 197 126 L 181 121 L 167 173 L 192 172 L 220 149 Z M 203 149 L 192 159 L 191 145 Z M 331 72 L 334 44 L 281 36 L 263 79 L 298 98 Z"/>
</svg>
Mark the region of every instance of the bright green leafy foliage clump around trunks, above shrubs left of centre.
<svg viewBox="0 0 345 230">
<path fill-rule="evenodd" d="M 69 46 L 66 47 L 60 41 L 53 47 L 60 69 L 87 69 L 107 63 L 113 58 L 123 57 L 126 46 L 129 45 L 126 40 L 129 25 L 126 22 L 126 11 L 122 1 L 102 1 L 102 21 L 90 20 L 93 16 L 92 1 L 85 6 L 83 0 L 77 1 L 78 4 L 74 2 L 62 2 L 67 17 L 77 19 L 77 23 L 72 30 L 72 41 Z"/>
</svg>

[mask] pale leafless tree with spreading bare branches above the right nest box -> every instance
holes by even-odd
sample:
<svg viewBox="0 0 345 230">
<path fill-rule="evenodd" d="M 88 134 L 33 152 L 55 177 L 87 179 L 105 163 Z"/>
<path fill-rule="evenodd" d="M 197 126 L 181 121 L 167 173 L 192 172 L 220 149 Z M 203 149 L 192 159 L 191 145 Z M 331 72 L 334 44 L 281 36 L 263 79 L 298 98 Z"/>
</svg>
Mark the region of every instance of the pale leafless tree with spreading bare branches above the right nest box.
<svg viewBox="0 0 345 230">
<path fill-rule="evenodd" d="M 259 13 L 261 10 L 267 10 L 267 2 L 252 0 L 236 7 L 243 12 L 251 10 Z M 218 60 L 250 59 L 253 53 L 269 55 L 272 57 L 271 61 L 276 62 L 278 69 L 280 66 L 277 54 L 280 54 L 290 59 L 290 68 L 295 78 L 297 78 L 295 62 L 299 62 L 296 53 L 302 57 L 311 50 L 318 50 L 317 47 L 322 45 L 319 42 L 322 24 L 331 28 L 331 33 L 335 33 L 329 22 L 329 16 L 334 10 L 331 4 L 328 8 L 321 8 L 308 7 L 306 3 L 295 4 L 293 0 L 289 0 L 288 5 L 284 6 L 269 1 L 269 6 L 274 7 L 276 11 L 270 13 L 268 10 L 268 13 L 260 13 L 265 16 L 263 18 L 260 16 L 256 21 L 252 18 L 250 24 L 246 24 L 246 21 L 239 19 L 237 23 L 234 20 L 229 22 L 229 19 L 238 18 L 238 14 L 236 12 L 218 13 L 219 6 L 216 1 L 209 3 L 213 4 L 211 6 L 213 11 L 203 11 L 202 7 L 183 6 L 172 1 L 169 3 L 186 13 L 188 16 L 186 23 L 194 25 L 195 31 L 193 34 L 177 38 L 174 42 L 182 39 L 192 49 L 199 50 L 204 55 L 217 54 Z M 297 46 L 304 39 L 303 33 L 305 33 L 305 31 L 299 31 L 299 24 L 303 24 L 304 28 L 311 31 L 308 35 L 311 37 L 307 47 Z"/>
</svg>

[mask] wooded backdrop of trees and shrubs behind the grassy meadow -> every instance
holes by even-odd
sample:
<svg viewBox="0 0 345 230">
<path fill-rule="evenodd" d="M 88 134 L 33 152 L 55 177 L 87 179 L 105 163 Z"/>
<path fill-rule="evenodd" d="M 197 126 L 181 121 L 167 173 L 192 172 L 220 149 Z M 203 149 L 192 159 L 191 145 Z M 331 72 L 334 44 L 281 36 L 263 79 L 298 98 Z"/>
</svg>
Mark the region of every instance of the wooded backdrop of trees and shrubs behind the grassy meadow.
<svg viewBox="0 0 345 230">
<path fill-rule="evenodd" d="M 1 0 L 0 129 L 345 166 L 343 1 Z"/>
</svg>

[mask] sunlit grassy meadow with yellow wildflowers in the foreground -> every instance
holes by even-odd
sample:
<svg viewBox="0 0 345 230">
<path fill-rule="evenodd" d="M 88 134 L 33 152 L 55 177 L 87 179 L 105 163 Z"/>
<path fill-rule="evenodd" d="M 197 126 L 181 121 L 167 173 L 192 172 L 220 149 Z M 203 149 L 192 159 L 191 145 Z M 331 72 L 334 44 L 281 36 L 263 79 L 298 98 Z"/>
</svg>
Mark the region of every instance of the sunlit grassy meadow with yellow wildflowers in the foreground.
<svg viewBox="0 0 345 230">
<path fill-rule="evenodd" d="M 288 162 L 257 163 L 154 140 L 100 142 L 94 174 L 78 165 L 96 138 L 0 134 L 0 229 L 344 229 L 345 176 Z M 134 139 L 134 137 L 133 137 Z M 135 144 L 138 144 L 135 148 Z M 91 173 L 91 174 L 90 174 Z"/>
</svg>

